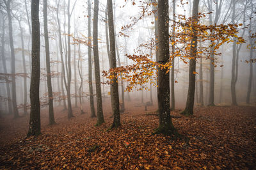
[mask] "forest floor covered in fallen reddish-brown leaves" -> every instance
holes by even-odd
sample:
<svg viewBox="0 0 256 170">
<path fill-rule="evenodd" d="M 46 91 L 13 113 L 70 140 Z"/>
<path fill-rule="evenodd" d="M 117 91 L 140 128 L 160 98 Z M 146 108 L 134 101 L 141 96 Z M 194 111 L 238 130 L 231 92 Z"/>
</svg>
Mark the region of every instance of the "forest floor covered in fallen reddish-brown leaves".
<svg viewBox="0 0 256 170">
<path fill-rule="evenodd" d="M 183 136 L 173 139 L 152 135 L 156 106 L 144 111 L 136 103 L 128 102 L 122 127 L 113 130 L 108 102 L 100 127 L 78 108 L 68 120 L 61 107 L 54 109 L 57 124 L 49 126 L 42 109 L 42 135 L 36 138 L 26 138 L 29 115 L 1 116 L 0 169 L 256 169 L 256 107 L 196 107 L 194 116 L 180 118 L 180 110 L 171 112 Z"/>
</svg>

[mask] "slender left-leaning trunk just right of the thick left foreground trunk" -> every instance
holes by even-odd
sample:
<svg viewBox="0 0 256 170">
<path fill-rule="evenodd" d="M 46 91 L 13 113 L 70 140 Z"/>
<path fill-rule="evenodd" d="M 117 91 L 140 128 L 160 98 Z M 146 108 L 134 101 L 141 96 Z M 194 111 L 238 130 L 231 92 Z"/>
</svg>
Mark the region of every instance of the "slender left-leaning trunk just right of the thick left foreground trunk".
<svg viewBox="0 0 256 170">
<path fill-rule="evenodd" d="M 48 23 L 47 23 L 47 0 L 44 0 L 44 40 L 45 40 L 45 60 L 46 60 L 46 73 L 47 73 L 47 88 L 48 88 L 48 111 L 49 111 L 49 125 L 55 123 L 53 97 L 52 97 L 52 80 L 51 80 L 51 65 L 50 65 L 50 49 L 48 37 Z"/>
</svg>

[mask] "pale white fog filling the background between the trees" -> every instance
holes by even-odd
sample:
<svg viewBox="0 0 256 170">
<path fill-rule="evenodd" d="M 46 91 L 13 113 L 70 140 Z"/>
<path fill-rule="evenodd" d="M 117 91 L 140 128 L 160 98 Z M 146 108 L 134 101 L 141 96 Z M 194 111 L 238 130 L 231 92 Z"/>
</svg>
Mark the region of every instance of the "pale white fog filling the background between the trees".
<svg viewBox="0 0 256 170">
<path fill-rule="evenodd" d="M 188 3 L 187 3 L 188 2 Z M 218 4 L 216 4 L 216 3 Z M 43 1 L 40 1 L 40 103 L 41 108 L 45 109 L 47 107 L 48 100 L 48 89 L 46 81 L 46 64 L 45 64 L 45 41 L 44 41 L 44 19 L 43 19 Z M 113 2 L 114 3 L 114 2 Z M 134 3 L 134 4 L 132 4 Z M 147 6 L 148 1 L 115 1 L 114 3 L 114 24 L 115 24 L 115 35 L 116 35 L 116 47 L 118 54 L 116 58 L 120 58 L 120 63 L 122 66 L 132 65 L 134 62 L 127 58 L 127 55 L 146 55 L 150 54 L 150 48 L 143 47 L 141 44 L 150 42 L 150 40 L 155 40 L 154 36 L 154 21 L 156 20 L 154 14 L 147 15 L 152 11 L 152 6 Z M 186 17 L 191 17 L 191 6 L 193 1 L 183 1 L 184 4 L 180 4 L 180 1 L 176 1 L 176 15 L 186 15 Z M 214 19 L 216 15 L 216 6 L 218 5 L 220 9 L 220 19 L 216 24 L 232 24 L 232 8 L 230 8 L 230 1 L 212 1 L 211 9 L 209 2 L 206 0 L 200 1 L 199 11 L 202 13 L 212 12 L 211 14 L 206 14 L 205 17 L 200 19 L 200 23 L 205 25 L 210 25 L 210 15 Z M 247 3 L 247 4 L 246 4 Z M 236 81 L 236 100 L 238 105 L 255 105 L 256 102 L 256 75 L 255 75 L 255 62 L 252 62 L 252 91 L 250 92 L 250 102 L 246 104 L 246 97 L 248 93 L 248 83 L 250 77 L 250 37 L 249 34 L 255 33 L 255 9 L 252 11 L 250 6 L 255 4 L 255 1 L 237 1 L 236 4 L 236 15 L 235 24 L 243 24 L 237 29 L 237 36 L 243 36 L 245 43 L 238 44 L 236 47 L 238 58 L 237 58 L 237 81 Z M 12 59 L 11 59 L 11 49 L 10 49 L 10 34 L 8 26 L 8 9 L 6 9 L 6 4 L 4 0 L 1 0 L 1 61 L 0 61 L 0 111 L 1 114 L 12 114 L 13 100 L 17 101 L 17 106 L 19 108 L 19 115 L 24 114 L 24 105 L 27 105 L 27 111 L 29 112 L 30 99 L 29 99 L 29 88 L 30 88 L 30 77 L 31 77 L 31 1 L 16 1 L 12 0 L 10 3 L 11 16 L 12 16 L 12 36 L 13 36 L 13 46 L 15 55 L 15 84 L 16 92 L 12 91 Z M 54 107 L 63 107 L 64 101 L 67 102 L 67 91 L 65 87 L 62 87 L 63 79 L 61 79 L 61 57 L 60 57 L 60 42 L 58 37 L 58 23 L 56 18 L 56 9 L 58 1 L 51 0 L 48 1 L 48 31 L 49 31 L 49 47 L 50 47 L 50 60 L 51 60 L 51 75 L 52 75 L 52 91 L 54 98 Z M 88 2 L 87 1 L 70 1 L 70 10 L 74 8 L 74 11 L 70 17 L 70 35 L 68 35 L 68 25 L 67 25 L 67 4 L 68 1 L 60 1 L 59 17 L 61 25 L 61 40 L 63 46 L 63 64 L 65 65 L 67 61 L 67 38 L 70 36 L 70 54 L 71 54 L 71 100 L 72 106 L 79 105 L 79 86 L 81 83 L 81 78 L 79 77 L 78 62 L 80 60 L 80 71 L 83 77 L 82 91 L 82 107 L 83 111 L 90 112 L 90 108 L 84 107 L 85 103 L 89 102 L 89 84 L 88 84 L 88 45 L 74 41 L 73 38 L 79 40 L 84 40 L 88 42 Z M 172 1 L 169 2 L 169 16 L 172 19 L 173 4 Z M 146 8 L 147 6 L 147 8 Z M 26 10 L 27 8 L 27 10 Z M 146 9 L 145 9 L 146 8 Z M 145 16 L 142 16 L 143 9 L 145 10 Z M 93 22 L 93 3 L 92 3 L 92 22 Z M 103 84 L 106 82 L 106 77 L 102 77 L 102 71 L 109 70 L 108 52 L 106 45 L 106 31 L 105 31 L 105 18 L 106 12 L 106 1 L 99 1 L 99 22 L 98 22 L 98 40 L 99 40 L 99 61 L 100 61 L 100 81 L 101 91 L 103 100 L 103 112 L 104 112 L 104 102 L 110 100 L 110 86 L 109 84 Z M 142 17 L 141 17 L 142 16 Z M 141 18 L 141 19 L 140 19 Z M 250 25 L 250 19 L 252 24 Z M 20 25 L 19 25 L 20 22 Z M 91 22 L 91 24 L 93 24 Z M 212 21 L 214 22 L 214 21 Z M 132 25 L 127 29 L 122 29 L 127 25 Z M 169 33 L 172 34 L 172 22 L 170 22 Z M 92 31 L 93 31 L 92 25 Z M 252 32 L 250 32 L 250 30 Z M 22 31 L 22 35 L 21 35 Z M 243 32 L 244 31 L 244 32 Z M 124 33 L 127 36 L 122 35 Z M 21 37 L 22 36 L 22 37 Z M 22 40 L 24 44 L 22 47 Z M 253 45 L 255 43 L 255 35 L 252 36 Z M 225 43 L 221 45 L 218 49 L 219 56 L 216 56 L 214 63 L 216 67 L 214 69 L 214 104 L 215 105 L 231 105 L 231 79 L 232 79 L 232 42 Z M 80 46 L 80 47 L 79 47 Z M 80 49 L 79 49 L 80 48 Z M 92 47 L 93 48 L 93 47 Z M 170 51 L 172 47 L 170 45 Z M 24 59 L 22 60 L 22 52 L 24 52 Z M 79 59 L 80 58 L 80 59 Z M 255 49 L 253 49 L 251 61 L 255 61 Z M 152 59 L 156 61 L 156 48 L 153 47 Z M 116 59 L 117 60 L 117 59 Z M 188 62 L 188 59 L 186 60 Z M 25 63 L 25 68 L 24 68 Z M 4 70 L 4 65 L 6 65 L 6 70 Z M 205 59 L 202 56 L 202 70 L 203 70 L 203 93 L 204 93 L 204 105 L 209 104 L 209 90 L 210 90 L 210 67 L 212 63 L 210 59 Z M 92 82 L 93 82 L 93 95 L 94 104 L 96 107 L 96 91 L 95 91 L 95 74 L 94 74 L 94 60 L 92 55 Z M 179 57 L 175 58 L 174 64 L 174 80 L 175 80 L 175 108 L 184 109 L 188 94 L 188 84 L 189 84 L 189 64 L 184 63 Z M 24 72 L 26 70 L 26 73 Z M 67 70 L 66 70 L 67 71 Z M 195 89 L 195 105 L 200 104 L 200 59 L 196 61 L 196 89 Z M 76 73 L 76 75 L 75 75 Z M 24 79 L 26 77 L 26 79 Z M 76 77 L 76 79 L 75 79 Z M 24 85 L 24 80 L 27 82 Z M 155 79 L 156 81 L 156 79 Z M 145 105 L 150 101 L 150 94 L 152 95 L 153 105 L 157 105 L 157 88 L 152 85 L 150 91 L 143 89 L 142 91 L 137 91 L 132 89 L 131 92 L 124 92 L 124 101 L 122 101 L 122 87 L 119 79 L 119 97 L 121 103 L 130 102 L 127 99 L 128 95 L 131 100 L 136 100 L 141 105 Z M 124 80 L 124 88 L 129 84 L 129 82 Z M 26 87 L 25 87 L 26 86 Z M 140 85 L 137 86 L 137 88 Z M 150 88 L 150 84 L 145 84 Z M 25 90 L 26 89 L 26 90 Z M 8 90 L 11 94 L 8 94 Z M 16 93 L 16 99 L 13 99 L 12 93 Z M 24 98 L 27 98 L 25 101 Z M 11 107 L 8 107 L 8 102 Z M 65 103 L 66 104 L 66 103 Z M 61 106 L 60 106 L 61 105 Z"/>
</svg>

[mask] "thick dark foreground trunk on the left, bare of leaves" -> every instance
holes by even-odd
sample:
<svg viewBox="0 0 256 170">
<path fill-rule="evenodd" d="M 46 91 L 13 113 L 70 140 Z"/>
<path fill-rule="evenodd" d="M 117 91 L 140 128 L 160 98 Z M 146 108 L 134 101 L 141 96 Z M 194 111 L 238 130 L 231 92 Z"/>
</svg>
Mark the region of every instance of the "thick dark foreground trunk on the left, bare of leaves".
<svg viewBox="0 0 256 170">
<path fill-rule="evenodd" d="M 32 26 L 32 72 L 30 84 L 30 120 L 29 135 L 39 135 L 41 133 L 40 123 L 40 101 L 39 101 L 39 85 L 40 85 L 40 23 L 39 23 L 39 0 L 31 1 L 31 26 Z"/>
</svg>

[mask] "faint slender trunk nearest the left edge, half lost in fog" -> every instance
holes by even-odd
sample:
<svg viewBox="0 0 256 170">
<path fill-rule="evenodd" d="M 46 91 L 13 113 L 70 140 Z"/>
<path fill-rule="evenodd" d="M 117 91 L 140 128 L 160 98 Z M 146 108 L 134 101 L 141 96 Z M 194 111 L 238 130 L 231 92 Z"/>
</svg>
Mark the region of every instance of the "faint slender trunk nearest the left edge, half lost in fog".
<svg viewBox="0 0 256 170">
<path fill-rule="evenodd" d="M 7 68 L 6 68 L 6 60 L 5 60 L 5 52 L 4 52 L 4 45 L 5 45 L 5 40 L 4 40 L 4 34 L 5 34 L 5 20 L 4 17 L 2 17 L 2 37 L 1 37 L 1 56 L 2 56 L 2 61 L 3 61 L 3 69 L 4 69 L 4 73 L 7 73 Z M 10 92 L 10 86 L 9 86 L 9 82 L 6 81 L 6 91 L 7 91 L 7 100 L 8 100 L 8 112 L 9 114 L 12 114 L 12 99 L 11 99 L 11 92 Z"/>
</svg>

